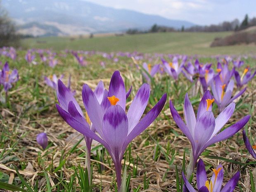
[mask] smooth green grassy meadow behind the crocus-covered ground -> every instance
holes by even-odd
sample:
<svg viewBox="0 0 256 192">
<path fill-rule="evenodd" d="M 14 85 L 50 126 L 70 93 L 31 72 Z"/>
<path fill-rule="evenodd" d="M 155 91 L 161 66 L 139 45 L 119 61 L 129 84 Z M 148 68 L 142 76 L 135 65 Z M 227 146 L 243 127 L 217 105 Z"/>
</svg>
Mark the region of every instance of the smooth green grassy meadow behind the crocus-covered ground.
<svg viewBox="0 0 256 192">
<path fill-rule="evenodd" d="M 187 55 L 241 55 L 253 54 L 256 46 L 237 45 L 210 47 L 214 38 L 225 37 L 230 32 L 218 33 L 148 33 L 125 36 L 105 36 L 95 38 L 47 37 L 22 40 L 23 47 L 52 48 L 53 50 L 97 50 L 102 52 L 143 52 L 171 53 Z"/>
</svg>

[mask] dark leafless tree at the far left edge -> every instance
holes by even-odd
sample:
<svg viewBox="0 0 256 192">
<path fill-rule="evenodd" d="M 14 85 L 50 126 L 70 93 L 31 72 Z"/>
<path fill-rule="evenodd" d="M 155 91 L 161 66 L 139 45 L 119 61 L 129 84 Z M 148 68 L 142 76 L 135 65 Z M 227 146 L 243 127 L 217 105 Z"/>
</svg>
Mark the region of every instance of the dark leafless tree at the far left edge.
<svg viewBox="0 0 256 192">
<path fill-rule="evenodd" d="M 9 19 L 6 10 L 1 6 L 0 0 L 0 47 L 19 45 L 19 36 L 16 34 L 15 26 Z"/>
</svg>

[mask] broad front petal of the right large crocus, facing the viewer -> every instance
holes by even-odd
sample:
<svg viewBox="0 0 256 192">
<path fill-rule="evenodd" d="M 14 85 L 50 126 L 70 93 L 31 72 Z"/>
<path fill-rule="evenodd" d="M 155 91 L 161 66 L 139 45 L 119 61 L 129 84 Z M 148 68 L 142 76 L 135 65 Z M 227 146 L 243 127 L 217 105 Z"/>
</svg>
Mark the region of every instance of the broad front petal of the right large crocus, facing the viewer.
<svg viewBox="0 0 256 192">
<path fill-rule="evenodd" d="M 213 112 L 206 111 L 197 120 L 197 124 L 194 130 L 194 133 L 197 133 L 197 134 L 194 135 L 195 150 L 193 152 L 197 156 L 197 158 L 200 155 L 201 151 L 204 150 L 205 144 L 211 138 L 214 128 L 215 128 L 215 118 L 214 118 Z M 194 159 L 195 162 L 197 158 Z"/>
</svg>

